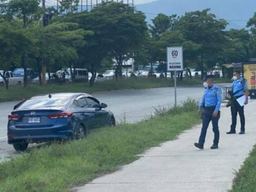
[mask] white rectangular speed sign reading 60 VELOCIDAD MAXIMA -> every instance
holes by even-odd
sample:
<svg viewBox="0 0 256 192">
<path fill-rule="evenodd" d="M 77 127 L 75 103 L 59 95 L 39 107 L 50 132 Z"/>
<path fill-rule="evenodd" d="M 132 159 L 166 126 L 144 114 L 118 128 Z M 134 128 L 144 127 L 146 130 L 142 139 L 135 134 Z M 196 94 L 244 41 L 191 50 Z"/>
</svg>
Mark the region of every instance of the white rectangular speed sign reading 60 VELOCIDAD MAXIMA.
<svg viewBox="0 0 256 192">
<path fill-rule="evenodd" d="M 183 47 L 167 47 L 167 71 L 183 71 Z"/>
</svg>

